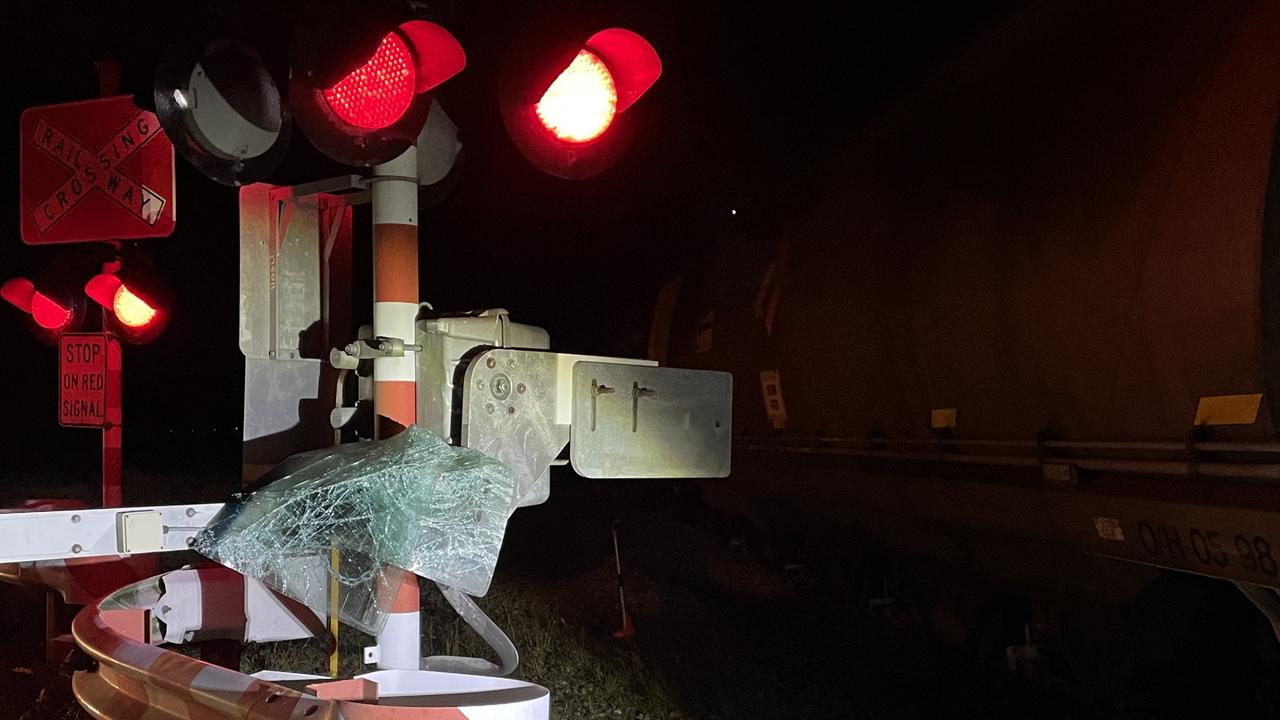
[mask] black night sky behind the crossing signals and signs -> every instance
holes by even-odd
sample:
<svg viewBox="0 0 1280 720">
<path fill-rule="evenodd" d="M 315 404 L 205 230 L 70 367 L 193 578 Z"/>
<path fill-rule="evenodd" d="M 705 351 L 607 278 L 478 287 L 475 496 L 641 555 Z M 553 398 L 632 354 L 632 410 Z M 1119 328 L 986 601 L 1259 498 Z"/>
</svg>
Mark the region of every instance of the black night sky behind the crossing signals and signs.
<svg viewBox="0 0 1280 720">
<path fill-rule="evenodd" d="M 517 32 L 535 18 L 572 18 L 581 5 L 431 4 L 433 19 L 468 56 L 439 94 L 466 156 L 449 195 L 422 214 L 422 299 L 451 310 L 504 306 L 518 322 L 547 327 L 557 350 L 643 354 L 664 279 L 716 243 L 767 232 L 806 168 L 1023 4 L 590 4 L 648 37 L 664 70 L 628 111 L 628 151 L 604 174 L 577 182 L 544 176 L 518 154 L 502 126 L 497 78 Z M 125 86 L 140 86 L 152 72 L 148 58 L 187 22 L 189 5 L 52 1 L 3 12 L 9 67 L 20 68 L 9 74 L 10 141 L 0 165 L 15 188 L 22 110 L 96 96 L 96 58 L 122 59 Z M 293 142 L 306 140 L 294 132 Z M 15 191 L 5 208 L 0 279 L 93 252 L 24 247 Z M 367 215 L 357 214 L 360 222 Z M 157 442 L 183 448 L 183 457 L 191 448 L 237 448 L 228 442 L 239 425 L 243 374 L 234 340 L 237 233 L 236 191 L 179 158 L 177 231 L 138 243 L 168 281 L 173 320 L 156 342 L 125 354 L 127 468 L 146 459 L 138 448 Z M 96 473 L 97 433 L 56 425 L 54 350 L 8 305 L 0 333 L 8 466 L 18 475 L 50 462 Z"/>
</svg>

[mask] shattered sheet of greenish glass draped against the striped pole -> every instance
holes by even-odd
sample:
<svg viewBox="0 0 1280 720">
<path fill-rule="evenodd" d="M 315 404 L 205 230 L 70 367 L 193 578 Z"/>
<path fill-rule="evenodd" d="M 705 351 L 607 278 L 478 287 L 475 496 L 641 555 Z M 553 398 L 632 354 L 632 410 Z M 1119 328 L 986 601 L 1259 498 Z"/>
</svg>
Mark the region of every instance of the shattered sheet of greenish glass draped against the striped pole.
<svg viewBox="0 0 1280 720">
<path fill-rule="evenodd" d="M 515 510 L 504 465 L 416 427 L 296 455 L 264 480 L 228 502 L 193 550 L 325 614 L 334 577 L 338 618 L 370 634 L 403 570 L 488 592 Z"/>
</svg>

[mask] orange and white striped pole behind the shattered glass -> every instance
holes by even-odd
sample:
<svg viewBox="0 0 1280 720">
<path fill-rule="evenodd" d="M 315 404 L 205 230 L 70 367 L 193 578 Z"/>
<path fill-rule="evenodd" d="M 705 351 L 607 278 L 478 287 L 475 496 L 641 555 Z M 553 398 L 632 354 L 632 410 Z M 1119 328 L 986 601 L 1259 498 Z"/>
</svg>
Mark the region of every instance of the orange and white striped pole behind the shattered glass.
<svg viewBox="0 0 1280 720">
<path fill-rule="evenodd" d="M 417 147 L 374 168 L 374 336 L 396 337 L 406 346 L 417 333 Z M 417 360 L 374 359 L 374 433 L 390 437 L 417 420 Z M 417 577 L 399 575 L 401 585 L 378 634 L 378 667 L 419 670 L 422 659 Z"/>
</svg>

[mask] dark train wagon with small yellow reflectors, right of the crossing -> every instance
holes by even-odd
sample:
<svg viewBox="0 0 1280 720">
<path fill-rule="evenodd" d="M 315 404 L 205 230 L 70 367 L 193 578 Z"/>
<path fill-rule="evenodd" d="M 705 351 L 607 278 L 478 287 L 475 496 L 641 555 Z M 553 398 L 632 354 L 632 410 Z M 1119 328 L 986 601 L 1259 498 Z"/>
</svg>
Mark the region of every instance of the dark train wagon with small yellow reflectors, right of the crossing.
<svg viewBox="0 0 1280 720">
<path fill-rule="evenodd" d="M 735 374 L 707 498 L 1280 620 L 1277 117 L 1280 3 L 1033 4 L 660 293 L 658 355 Z"/>
</svg>

